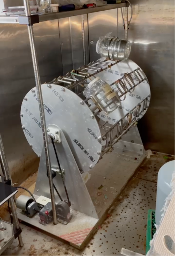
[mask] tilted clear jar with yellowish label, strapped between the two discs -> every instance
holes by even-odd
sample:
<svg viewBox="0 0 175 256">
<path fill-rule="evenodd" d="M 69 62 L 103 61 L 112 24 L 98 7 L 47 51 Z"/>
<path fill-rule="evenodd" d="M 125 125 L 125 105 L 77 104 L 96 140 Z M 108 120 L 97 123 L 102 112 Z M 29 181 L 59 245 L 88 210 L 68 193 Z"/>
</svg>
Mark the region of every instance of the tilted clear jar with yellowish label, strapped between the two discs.
<svg viewBox="0 0 175 256">
<path fill-rule="evenodd" d="M 97 108 L 105 114 L 110 114 L 121 106 L 117 92 L 99 77 L 88 84 L 83 95 L 86 98 L 90 97 Z"/>
</svg>

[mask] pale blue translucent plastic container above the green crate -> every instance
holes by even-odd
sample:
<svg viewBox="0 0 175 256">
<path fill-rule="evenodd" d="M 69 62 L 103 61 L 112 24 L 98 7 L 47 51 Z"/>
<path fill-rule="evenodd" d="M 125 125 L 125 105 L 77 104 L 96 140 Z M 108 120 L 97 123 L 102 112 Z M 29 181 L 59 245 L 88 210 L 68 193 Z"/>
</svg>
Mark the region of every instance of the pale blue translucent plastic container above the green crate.
<svg viewBox="0 0 175 256">
<path fill-rule="evenodd" d="M 158 173 L 157 199 L 156 199 L 156 225 L 162 219 L 162 209 L 165 200 L 172 191 L 171 181 L 175 170 L 175 161 L 170 161 L 163 165 Z"/>
</svg>

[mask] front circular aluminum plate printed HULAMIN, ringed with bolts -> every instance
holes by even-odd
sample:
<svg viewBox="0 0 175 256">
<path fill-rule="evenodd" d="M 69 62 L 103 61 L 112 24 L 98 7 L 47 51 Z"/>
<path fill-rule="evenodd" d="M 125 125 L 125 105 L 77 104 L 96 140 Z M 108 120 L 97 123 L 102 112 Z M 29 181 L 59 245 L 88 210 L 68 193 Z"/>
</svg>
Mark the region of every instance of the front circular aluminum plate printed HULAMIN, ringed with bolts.
<svg viewBox="0 0 175 256">
<path fill-rule="evenodd" d="M 43 84 L 42 94 L 46 125 L 55 124 L 62 129 L 80 172 L 87 172 L 98 162 L 102 151 L 96 118 L 86 104 L 80 104 L 82 99 L 79 96 L 62 86 Z M 35 87 L 23 100 L 21 124 L 28 143 L 37 155 L 41 155 L 43 148 L 40 120 Z"/>
</svg>

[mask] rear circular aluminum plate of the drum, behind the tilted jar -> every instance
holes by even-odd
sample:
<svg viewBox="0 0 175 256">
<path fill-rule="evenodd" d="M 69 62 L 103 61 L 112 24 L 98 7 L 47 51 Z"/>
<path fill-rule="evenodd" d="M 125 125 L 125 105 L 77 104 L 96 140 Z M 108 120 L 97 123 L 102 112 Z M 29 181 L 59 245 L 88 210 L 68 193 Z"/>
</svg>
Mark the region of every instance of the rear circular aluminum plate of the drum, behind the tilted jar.
<svg viewBox="0 0 175 256">
<path fill-rule="evenodd" d="M 103 60 L 103 59 L 101 59 Z M 114 61 L 110 61 L 114 63 Z M 100 68 L 104 68 L 104 66 L 100 66 Z M 122 78 L 124 76 L 124 73 L 130 73 L 134 71 L 136 68 L 140 68 L 134 61 L 127 60 L 127 61 L 121 61 L 118 64 L 112 66 L 111 68 L 106 69 L 103 72 L 100 72 L 99 74 L 95 75 L 95 77 L 100 77 L 102 80 L 106 81 L 108 84 L 112 84 L 118 79 Z M 114 110 L 112 113 L 106 115 L 103 112 L 98 114 L 100 119 L 103 121 L 108 121 L 110 124 L 115 124 L 120 118 L 125 116 L 128 112 L 130 112 L 131 109 L 133 109 L 140 101 L 142 101 L 143 98 L 147 97 L 150 92 L 150 84 L 148 83 L 148 79 L 142 69 L 140 68 L 140 73 L 142 74 L 142 77 L 145 78 L 144 82 L 140 83 L 138 86 L 135 87 L 134 90 L 132 90 L 130 93 L 127 93 L 126 98 L 121 98 L 121 106 L 120 108 Z M 92 79 L 95 77 L 92 77 L 91 80 L 88 80 L 88 82 L 91 82 Z M 137 81 L 136 77 L 133 76 L 133 79 Z M 112 86 L 112 88 L 116 89 L 116 86 Z M 90 100 L 88 101 L 91 105 L 94 105 L 94 103 Z M 148 100 L 148 105 L 150 104 L 150 100 Z M 144 116 L 147 110 L 144 111 L 140 115 L 140 118 Z"/>
</svg>

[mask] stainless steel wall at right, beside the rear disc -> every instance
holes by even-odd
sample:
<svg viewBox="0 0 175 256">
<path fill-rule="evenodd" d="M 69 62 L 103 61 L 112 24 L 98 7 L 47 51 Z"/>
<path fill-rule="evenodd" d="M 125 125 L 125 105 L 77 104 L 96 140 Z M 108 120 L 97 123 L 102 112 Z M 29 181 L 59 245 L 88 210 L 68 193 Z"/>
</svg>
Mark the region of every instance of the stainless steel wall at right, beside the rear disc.
<svg viewBox="0 0 175 256">
<path fill-rule="evenodd" d="M 151 103 L 139 122 L 147 149 L 174 154 L 174 0 L 131 0 L 131 59 L 146 73 Z"/>
</svg>

